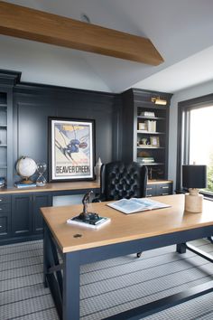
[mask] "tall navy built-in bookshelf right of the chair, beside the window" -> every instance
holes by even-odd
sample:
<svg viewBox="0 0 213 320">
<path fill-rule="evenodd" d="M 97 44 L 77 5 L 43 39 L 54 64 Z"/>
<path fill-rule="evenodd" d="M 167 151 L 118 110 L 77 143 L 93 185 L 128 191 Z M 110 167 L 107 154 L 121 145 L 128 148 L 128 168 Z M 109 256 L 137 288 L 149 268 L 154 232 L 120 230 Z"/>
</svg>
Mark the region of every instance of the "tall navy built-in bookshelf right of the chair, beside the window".
<svg viewBox="0 0 213 320">
<path fill-rule="evenodd" d="M 153 97 L 165 99 L 166 105 L 156 105 L 152 102 Z M 170 100 L 171 94 L 164 92 L 129 89 L 123 94 L 125 160 L 146 165 L 149 179 L 168 178 Z"/>
</svg>

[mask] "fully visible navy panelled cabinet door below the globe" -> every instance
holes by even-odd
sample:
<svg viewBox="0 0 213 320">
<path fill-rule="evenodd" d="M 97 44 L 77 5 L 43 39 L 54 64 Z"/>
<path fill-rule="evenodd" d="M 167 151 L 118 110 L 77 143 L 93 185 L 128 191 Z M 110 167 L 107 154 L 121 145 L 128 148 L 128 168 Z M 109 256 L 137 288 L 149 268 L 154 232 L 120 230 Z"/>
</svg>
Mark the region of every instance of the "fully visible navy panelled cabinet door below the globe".
<svg viewBox="0 0 213 320">
<path fill-rule="evenodd" d="M 12 234 L 29 235 L 32 232 L 32 196 L 19 194 L 12 196 Z"/>
</svg>

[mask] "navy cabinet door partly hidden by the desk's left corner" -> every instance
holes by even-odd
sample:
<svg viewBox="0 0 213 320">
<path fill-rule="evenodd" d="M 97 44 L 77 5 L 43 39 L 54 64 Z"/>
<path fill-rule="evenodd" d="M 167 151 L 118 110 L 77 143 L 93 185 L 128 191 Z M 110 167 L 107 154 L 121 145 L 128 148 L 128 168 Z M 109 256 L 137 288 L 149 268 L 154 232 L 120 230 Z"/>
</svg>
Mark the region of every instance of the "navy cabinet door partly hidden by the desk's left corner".
<svg viewBox="0 0 213 320">
<path fill-rule="evenodd" d="M 42 193 L 32 196 L 32 232 L 42 233 L 43 219 L 40 208 L 51 206 L 51 194 Z"/>
</svg>

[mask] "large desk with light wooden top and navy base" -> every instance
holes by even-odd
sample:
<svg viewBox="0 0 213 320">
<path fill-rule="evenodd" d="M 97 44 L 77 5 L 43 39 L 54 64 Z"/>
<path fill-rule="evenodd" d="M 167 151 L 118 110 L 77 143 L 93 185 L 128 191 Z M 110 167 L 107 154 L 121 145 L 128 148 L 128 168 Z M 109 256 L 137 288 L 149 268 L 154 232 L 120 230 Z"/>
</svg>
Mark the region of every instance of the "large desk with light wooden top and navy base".
<svg viewBox="0 0 213 320">
<path fill-rule="evenodd" d="M 213 234 L 213 202 L 204 201 L 203 213 L 190 213 L 183 210 L 183 194 L 153 199 L 171 204 L 171 207 L 125 215 L 106 206 L 106 202 L 89 204 L 89 211 L 111 218 L 110 223 L 99 230 L 66 224 L 67 219 L 81 212 L 82 206 L 42 208 L 45 221 L 44 283 L 51 288 L 61 319 L 79 320 L 80 265 L 171 244 L 178 244 L 177 250 L 182 253 L 188 248 L 185 244 L 187 241 Z M 59 265 L 56 248 L 63 260 L 62 266 Z M 212 261 L 209 257 L 208 260 Z M 63 278 L 60 268 L 63 269 Z M 193 292 L 184 292 L 181 299 L 187 301 L 211 291 L 212 287 L 211 284 L 210 287 L 203 286 Z M 116 315 L 110 319 L 150 315 L 154 308 L 159 311 L 163 306 L 165 308 L 180 303 L 180 294 L 178 295 L 136 307 L 122 313 L 120 317 Z"/>
</svg>

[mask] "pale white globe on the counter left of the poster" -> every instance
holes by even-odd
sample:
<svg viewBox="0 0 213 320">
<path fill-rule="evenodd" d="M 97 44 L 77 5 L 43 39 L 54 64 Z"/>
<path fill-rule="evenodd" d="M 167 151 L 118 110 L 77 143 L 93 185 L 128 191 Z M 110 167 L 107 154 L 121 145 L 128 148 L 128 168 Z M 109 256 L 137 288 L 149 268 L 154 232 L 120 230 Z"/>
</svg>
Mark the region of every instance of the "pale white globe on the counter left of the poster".
<svg viewBox="0 0 213 320">
<path fill-rule="evenodd" d="M 23 177 L 24 184 L 32 184 L 32 181 L 29 180 L 29 177 L 36 172 L 36 169 L 36 163 L 29 156 L 23 156 L 20 158 L 16 165 L 17 173 Z"/>
</svg>

